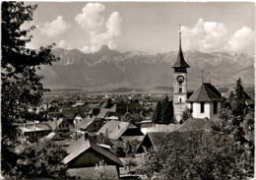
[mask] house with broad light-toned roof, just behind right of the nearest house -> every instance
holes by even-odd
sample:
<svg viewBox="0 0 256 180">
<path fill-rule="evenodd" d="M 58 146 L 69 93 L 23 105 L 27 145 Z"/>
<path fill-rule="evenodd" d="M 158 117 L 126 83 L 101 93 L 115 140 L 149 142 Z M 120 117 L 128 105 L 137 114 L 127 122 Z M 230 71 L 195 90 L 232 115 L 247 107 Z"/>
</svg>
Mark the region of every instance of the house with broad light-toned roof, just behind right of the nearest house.
<svg viewBox="0 0 256 180">
<path fill-rule="evenodd" d="M 141 130 L 135 125 L 116 120 L 111 120 L 104 124 L 98 132 L 96 132 L 96 135 L 100 134 L 114 141 L 121 140 L 122 136 L 143 136 Z"/>
</svg>

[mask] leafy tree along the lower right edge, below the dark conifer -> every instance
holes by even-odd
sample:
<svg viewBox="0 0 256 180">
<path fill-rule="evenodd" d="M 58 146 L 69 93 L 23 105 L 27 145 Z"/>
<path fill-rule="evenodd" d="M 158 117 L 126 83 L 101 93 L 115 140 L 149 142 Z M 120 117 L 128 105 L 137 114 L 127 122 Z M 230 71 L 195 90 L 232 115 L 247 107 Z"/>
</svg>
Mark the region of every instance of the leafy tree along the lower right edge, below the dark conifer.
<svg viewBox="0 0 256 180">
<path fill-rule="evenodd" d="M 232 110 L 223 109 L 222 121 L 213 127 L 221 134 L 231 137 L 237 146 L 237 166 L 247 176 L 253 176 L 254 172 L 254 112 L 244 115 L 234 115 Z"/>
</svg>

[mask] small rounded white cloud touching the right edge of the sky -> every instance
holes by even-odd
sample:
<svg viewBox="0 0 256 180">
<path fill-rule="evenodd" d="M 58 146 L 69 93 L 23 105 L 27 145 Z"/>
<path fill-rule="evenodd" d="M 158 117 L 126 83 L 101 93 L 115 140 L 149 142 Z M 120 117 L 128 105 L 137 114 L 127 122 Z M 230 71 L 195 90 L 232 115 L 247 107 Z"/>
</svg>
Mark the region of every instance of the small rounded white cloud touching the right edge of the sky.
<svg viewBox="0 0 256 180">
<path fill-rule="evenodd" d="M 242 27 L 236 30 L 227 42 L 227 48 L 233 52 L 252 52 L 253 51 L 253 30 Z"/>
</svg>

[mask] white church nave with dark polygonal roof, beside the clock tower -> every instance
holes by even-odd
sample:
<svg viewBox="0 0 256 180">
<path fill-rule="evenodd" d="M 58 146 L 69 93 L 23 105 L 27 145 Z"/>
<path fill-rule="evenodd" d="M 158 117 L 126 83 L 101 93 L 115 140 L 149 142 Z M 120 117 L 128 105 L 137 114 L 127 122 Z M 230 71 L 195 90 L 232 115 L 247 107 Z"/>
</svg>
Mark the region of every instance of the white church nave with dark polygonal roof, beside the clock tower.
<svg viewBox="0 0 256 180">
<path fill-rule="evenodd" d="M 202 83 L 187 99 L 194 118 L 218 118 L 221 102 L 222 93 L 210 83 Z"/>
</svg>

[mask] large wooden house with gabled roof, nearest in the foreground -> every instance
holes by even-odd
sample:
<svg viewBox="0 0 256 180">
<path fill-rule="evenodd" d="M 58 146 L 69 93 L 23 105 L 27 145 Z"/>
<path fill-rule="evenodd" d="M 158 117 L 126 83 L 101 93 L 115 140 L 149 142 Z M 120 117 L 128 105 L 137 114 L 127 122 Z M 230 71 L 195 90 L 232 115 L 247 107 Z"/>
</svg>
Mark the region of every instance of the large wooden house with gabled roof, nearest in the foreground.
<svg viewBox="0 0 256 180">
<path fill-rule="evenodd" d="M 104 165 L 116 166 L 119 172 L 119 167 L 123 166 L 121 160 L 107 146 L 97 144 L 87 133 L 66 150 L 68 155 L 63 159 L 63 163 L 67 164 L 68 168 L 96 167 L 103 161 Z"/>
</svg>

